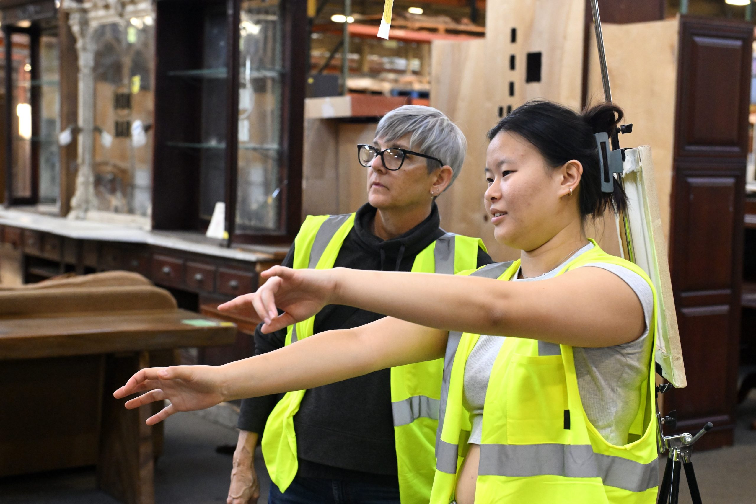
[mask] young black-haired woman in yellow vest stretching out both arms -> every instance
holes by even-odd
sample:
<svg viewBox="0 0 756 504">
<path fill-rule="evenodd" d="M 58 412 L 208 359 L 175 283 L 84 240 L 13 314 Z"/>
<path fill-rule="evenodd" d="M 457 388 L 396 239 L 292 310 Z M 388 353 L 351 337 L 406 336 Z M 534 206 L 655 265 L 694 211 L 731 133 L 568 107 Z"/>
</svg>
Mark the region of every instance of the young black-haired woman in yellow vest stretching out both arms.
<svg viewBox="0 0 756 504">
<path fill-rule="evenodd" d="M 155 423 L 445 355 L 431 502 L 654 502 L 655 292 L 584 233 L 626 206 L 621 187 L 601 191 L 594 138 L 621 116 L 535 101 L 491 129 L 485 206 L 518 261 L 456 276 L 271 268 L 223 308 L 264 331 L 330 304 L 389 317 L 225 366 L 144 369 L 116 397 L 169 399 Z"/>
</svg>

